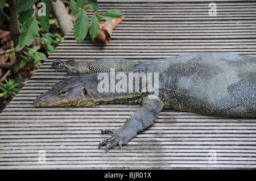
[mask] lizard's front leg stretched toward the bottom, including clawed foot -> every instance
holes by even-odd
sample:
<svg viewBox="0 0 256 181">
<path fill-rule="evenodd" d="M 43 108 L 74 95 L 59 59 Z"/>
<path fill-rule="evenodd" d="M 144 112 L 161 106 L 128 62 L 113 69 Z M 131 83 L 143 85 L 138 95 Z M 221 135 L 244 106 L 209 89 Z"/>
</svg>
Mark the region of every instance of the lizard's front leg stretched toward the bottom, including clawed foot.
<svg viewBox="0 0 256 181">
<path fill-rule="evenodd" d="M 106 151 L 119 145 L 122 149 L 122 145 L 126 145 L 137 133 L 142 132 L 144 129 L 150 127 L 154 121 L 158 118 L 163 103 L 159 98 L 150 99 L 148 97 L 142 99 L 142 108 L 136 111 L 133 115 L 125 121 L 125 124 L 116 130 L 104 129 L 101 133 L 110 133 L 111 136 L 100 142 L 98 149 L 102 145 L 106 145 Z"/>
</svg>

